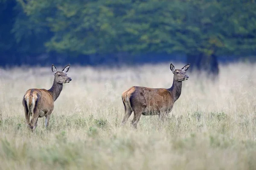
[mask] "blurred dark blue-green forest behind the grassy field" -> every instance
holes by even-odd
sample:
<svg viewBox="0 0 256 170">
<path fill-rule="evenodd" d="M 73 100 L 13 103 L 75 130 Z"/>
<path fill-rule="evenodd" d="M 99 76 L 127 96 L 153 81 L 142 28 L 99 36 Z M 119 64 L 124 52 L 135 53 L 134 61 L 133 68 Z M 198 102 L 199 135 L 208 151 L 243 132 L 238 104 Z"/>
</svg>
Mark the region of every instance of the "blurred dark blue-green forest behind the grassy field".
<svg viewBox="0 0 256 170">
<path fill-rule="evenodd" d="M 0 66 L 256 60 L 255 0 L 0 0 Z"/>
</svg>

